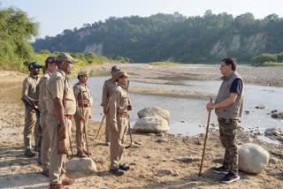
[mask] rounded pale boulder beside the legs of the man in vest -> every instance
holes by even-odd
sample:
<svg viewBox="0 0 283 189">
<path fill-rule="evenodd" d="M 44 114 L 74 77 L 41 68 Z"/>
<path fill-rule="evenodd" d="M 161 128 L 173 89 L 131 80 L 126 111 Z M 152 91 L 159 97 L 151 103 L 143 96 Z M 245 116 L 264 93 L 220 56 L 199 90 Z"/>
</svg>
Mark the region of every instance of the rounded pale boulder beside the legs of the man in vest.
<svg viewBox="0 0 283 189">
<path fill-rule="evenodd" d="M 238 147 L 239 170 L 259 173 L 269 162 L 269 153 L 261 146 L 246 143 Z"/>
</svg>

